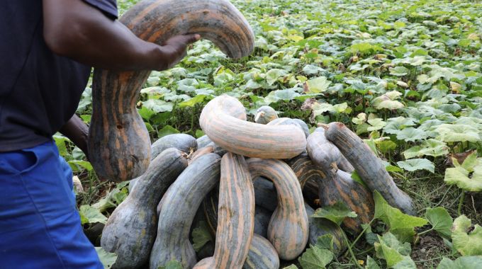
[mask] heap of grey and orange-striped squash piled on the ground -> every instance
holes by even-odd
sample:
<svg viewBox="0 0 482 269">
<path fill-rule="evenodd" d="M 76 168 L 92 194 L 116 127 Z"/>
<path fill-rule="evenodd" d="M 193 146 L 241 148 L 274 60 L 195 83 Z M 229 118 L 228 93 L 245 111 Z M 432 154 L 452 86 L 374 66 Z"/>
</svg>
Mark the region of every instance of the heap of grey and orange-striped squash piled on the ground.
<svg viewBox="0 0 482 269">
<path fill-rule="evenodd" d="M 413 214 L 381 159 L 342 123 L 310 134 L 301 120 L 263 113 L 256 119 L 266 125 L 248 122 L 240 101 L 218 96 L 201 113 L 205 136 L 167 135 L 152 144 L 147 171 L 130 182 L 103 229 L 101 246 L 118 255 L 114 268 L 172 260 L 184 268 L 279 268 L 324 234 L 343 253 L 340 227 L 310 217 L 315 200 L 321 207 L 342 201 L 356 212 L 342 225 L 352 234 L 373 218 L 373 190 Z M 355 170 L 366 186 L 352 180 Z M 195 217 L 215 236 L 201 261 L 190 240 Z"/>
</svg>

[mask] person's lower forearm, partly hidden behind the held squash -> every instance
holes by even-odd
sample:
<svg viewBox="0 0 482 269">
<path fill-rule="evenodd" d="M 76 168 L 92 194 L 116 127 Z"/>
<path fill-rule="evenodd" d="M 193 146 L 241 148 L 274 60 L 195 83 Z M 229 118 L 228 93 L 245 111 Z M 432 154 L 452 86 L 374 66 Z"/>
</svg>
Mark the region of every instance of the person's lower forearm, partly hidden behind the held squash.
<svg viewBox="0 0 482 269">
<path fill-rule="evenodd" d="M 89 159 L 89 151 L 87 149 L 87 137 L 89 137 L 89 127 L 77 115 L 73 115 L 70 120 L 65 123 L 59 130 L 62 135 L 65 135 L 74 142 L 74 144 L 84 151 L 85 156 Z"/>
</svg>

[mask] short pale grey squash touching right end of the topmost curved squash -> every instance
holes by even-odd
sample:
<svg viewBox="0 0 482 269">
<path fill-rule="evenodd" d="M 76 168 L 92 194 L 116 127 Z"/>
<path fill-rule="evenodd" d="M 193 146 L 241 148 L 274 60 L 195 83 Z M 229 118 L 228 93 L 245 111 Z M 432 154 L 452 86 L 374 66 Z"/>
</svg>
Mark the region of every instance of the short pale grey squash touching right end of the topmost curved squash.
<svg viewBox="0 0 482 269">
<path fill-rule="evenodd" d="M 325 129 L 322 127 L 316 128 L 306 140 L 306 151 L 310 158 L 324 171 L 331 169 L 332 164 L 336 164 L 337 168 L 348 173 L 354 171 L 352 164 L 343 156 L 340 149 L 326 139 Z"/>
</svg>

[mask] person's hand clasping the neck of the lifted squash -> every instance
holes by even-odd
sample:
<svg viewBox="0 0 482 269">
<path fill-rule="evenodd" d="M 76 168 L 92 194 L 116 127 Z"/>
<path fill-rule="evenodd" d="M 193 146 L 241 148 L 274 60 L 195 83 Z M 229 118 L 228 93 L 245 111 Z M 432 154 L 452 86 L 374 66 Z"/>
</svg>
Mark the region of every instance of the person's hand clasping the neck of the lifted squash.
<svg viewBox="0 0 482 269">
<path fill-rule="evenodd" d="M 186 47 L 201 38 L 201 35 L 175 35 L 169 38 L 162 45 L 163 60 L 160 70 L 174 67 L 178 62 L 186 56 Z M 159 70 L 159 71 L 160 71 Z"/>
</svg>

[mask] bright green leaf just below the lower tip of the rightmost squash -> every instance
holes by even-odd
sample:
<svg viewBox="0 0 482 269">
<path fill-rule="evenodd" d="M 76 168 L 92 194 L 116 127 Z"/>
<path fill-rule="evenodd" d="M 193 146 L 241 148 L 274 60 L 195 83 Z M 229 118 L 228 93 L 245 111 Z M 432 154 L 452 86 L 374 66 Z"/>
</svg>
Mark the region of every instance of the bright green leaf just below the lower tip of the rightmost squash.
<svg viewBox="0 0 482 269">
<path fill-rule="evenodd" d="M 392 234 L 398 236 L 403 242 L 413 241 L 415 227 L 422 227 L 427 224 L 426 219 L 403 214 L 398 208 L 388 205 L 378 191 L 374 191 L 375 219 L 381 219 L 388 225 Z"/>
</svg>

